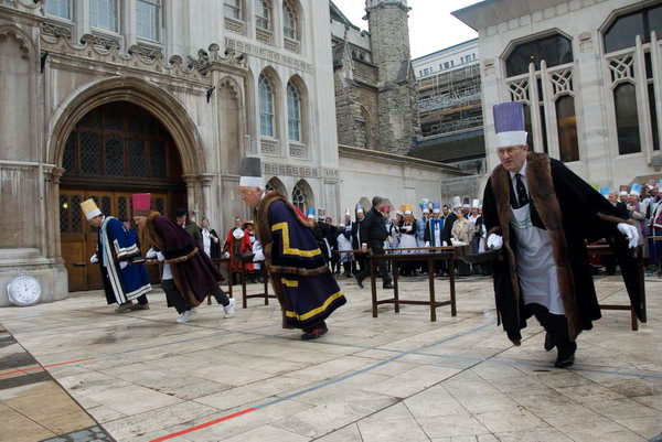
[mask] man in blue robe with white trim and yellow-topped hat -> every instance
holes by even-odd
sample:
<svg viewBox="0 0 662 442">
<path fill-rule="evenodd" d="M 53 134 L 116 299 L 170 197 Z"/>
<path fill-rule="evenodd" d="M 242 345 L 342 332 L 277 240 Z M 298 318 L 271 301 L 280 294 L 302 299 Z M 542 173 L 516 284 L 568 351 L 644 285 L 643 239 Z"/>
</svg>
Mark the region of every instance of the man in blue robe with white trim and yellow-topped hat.
<svg viewBox="0 0 662 442">
<path fill-rule="evenodd" d="M 151 290 L 145 266 L 129 266 L 129 258 L 140 257 L 136 235 L 113 216 L 104 216 L 94 200 L 84 201 L 81 208 L 93 227 L 99 229 L 97 252 L 90 262 L 102 268 L 104 291 L 108 304 L 119 304 L 116 313 L 149 310 L 147 292 Z M 134 304 L 134 300 L 138 303 Z"/>
</svg>

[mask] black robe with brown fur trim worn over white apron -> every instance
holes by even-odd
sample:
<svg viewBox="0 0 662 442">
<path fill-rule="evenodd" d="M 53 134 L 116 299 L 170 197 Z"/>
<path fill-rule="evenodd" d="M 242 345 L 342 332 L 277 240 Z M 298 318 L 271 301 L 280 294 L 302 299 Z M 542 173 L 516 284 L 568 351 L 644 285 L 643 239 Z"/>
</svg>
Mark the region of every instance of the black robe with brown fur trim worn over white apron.
<svg viewBox="0 0 662 442">
<path fill-rule="evenodd" d="M 560 161 L 544 153 L 526 157 L 526 183 L 531 196 L 531 220 L 546 229 L 553 248 L 558 288 L 568 335 L 575 339 L 583 330 L 592 328 L 600 308 L 588 266 L 586 244 L 605 238 L 613 249 L 621 268 L 630 301 L 641 317 L 640 280 L 632 251 L 618 223 L 627 223 L 597 191 L 573 173 Z M 498 165 L 483 196 L 483 222 L 491 234 L 503 236 L 503 248 L 494 261 L 496 310 L 509 337 L 520 335 L 532 316 L 524 305 L 517 277 L 516 237 L 510 226 L 512 184 L 510 173 Z M 485 238 L 487 240 L 487 238 Z"/>
</svg>

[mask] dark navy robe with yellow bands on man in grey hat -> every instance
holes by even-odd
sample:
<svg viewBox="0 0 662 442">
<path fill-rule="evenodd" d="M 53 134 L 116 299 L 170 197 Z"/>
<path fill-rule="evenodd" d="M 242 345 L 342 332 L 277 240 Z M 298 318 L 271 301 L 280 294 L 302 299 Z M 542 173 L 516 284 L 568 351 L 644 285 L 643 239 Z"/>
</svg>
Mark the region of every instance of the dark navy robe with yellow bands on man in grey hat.
<svg viewBox="0 0 662 442">
<path fill-rule="evenodd" d="M 275 192 L 257 206 L 257 236 L 286 328 L 313 326 L 346 302 L 310 226 Z"/>
</svg>

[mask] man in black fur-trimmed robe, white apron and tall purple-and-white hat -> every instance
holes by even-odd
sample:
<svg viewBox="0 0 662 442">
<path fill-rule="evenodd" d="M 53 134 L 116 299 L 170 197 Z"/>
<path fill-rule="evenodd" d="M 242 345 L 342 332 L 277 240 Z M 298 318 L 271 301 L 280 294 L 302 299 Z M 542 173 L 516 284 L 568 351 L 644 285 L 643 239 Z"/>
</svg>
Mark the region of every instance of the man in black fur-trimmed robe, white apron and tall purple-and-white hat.
<svg viewBox="0 0 662 442">
<path fill-rule="evenodd" d="M 587 241 L 606 238 L 612 247 L 641 317 L 640 281 L 629 250 L 637 246 L 637 229 L 562 162 L 528 152 L 521 103 L 495 106 L 494 126 L 501 164 L 485 186 L 483 220 L 488 247 L 503 246 L 493 270 L 496 310 L 515 345 L 535 315 L 547 332 L 545 349 L 557 347 L 555 366 L 568 367 L 577 335 L 600 319 Z"/>
</svg>

